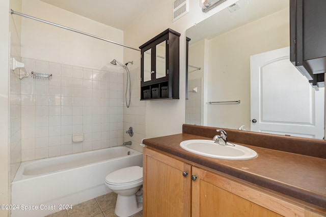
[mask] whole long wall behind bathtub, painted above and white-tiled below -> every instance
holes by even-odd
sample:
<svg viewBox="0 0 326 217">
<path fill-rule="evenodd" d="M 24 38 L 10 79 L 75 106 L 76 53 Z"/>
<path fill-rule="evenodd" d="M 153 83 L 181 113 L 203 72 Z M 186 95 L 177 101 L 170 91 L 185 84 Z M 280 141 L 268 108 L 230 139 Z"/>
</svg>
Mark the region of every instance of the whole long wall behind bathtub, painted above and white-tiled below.
<svg viewBox="0 0 326 217">
<path fill-rule="evenodd" d="M 54 7 L 22 0 L 22 13 L 123 43 L 123 31 Z M 22 18 L 26 70 L 52 80 L 22 79 L 22 161 L 123 143 L 123 62 L 119 45 Z M 84 142 L 72 134 L 84 133 Z"/>
</svg>

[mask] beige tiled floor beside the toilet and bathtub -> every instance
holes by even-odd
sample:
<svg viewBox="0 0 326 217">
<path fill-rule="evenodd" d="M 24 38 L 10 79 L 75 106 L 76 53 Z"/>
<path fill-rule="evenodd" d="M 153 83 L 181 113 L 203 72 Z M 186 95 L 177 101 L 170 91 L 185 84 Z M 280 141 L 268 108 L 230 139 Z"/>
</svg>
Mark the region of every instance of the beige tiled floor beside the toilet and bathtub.
<svg viewBox="0 0 326 217">
<path fill-rule="evenodd" d="M 72 209 L 62 210 L 46 217 L 116 217 L 114 208 L 117 202 L 117 194 L 114 192 L 88 200 L 72 206 Z M 143 212 L 132 215 L 142 217 Z"/>
</svg>

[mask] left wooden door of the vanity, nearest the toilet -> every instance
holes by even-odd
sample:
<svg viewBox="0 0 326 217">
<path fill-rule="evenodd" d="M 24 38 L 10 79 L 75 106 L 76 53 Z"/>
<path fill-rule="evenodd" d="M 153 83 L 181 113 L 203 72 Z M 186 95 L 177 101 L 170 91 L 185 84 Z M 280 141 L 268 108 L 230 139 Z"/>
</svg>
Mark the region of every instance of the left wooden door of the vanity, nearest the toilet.
<svg viewBox="0 0 326 217">
<path fill-rule="evenodd" d="M 144 148 L 143 171 L 143 216 L 191 216 L 190 165 Z"/>
</svg>

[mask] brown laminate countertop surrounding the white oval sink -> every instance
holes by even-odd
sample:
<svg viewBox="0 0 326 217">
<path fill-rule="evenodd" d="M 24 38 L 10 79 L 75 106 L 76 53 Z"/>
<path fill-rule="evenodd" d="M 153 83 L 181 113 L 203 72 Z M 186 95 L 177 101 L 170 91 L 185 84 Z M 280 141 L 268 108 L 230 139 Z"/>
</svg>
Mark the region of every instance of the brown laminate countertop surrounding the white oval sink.
<svg viewBox="0 0 326 217">
<path fill-rule="evenodd" d="M 187 161 L 326 208 L 326 159 L 246 144 L 241 145 L 254 149 L 258 153 L 257 158 L 240 161 L 213 159 L 182 149 L 180 142 L 189 139 L 211 138 L 182 133 L 145 139 L 143 143 Z"/>
</svg>

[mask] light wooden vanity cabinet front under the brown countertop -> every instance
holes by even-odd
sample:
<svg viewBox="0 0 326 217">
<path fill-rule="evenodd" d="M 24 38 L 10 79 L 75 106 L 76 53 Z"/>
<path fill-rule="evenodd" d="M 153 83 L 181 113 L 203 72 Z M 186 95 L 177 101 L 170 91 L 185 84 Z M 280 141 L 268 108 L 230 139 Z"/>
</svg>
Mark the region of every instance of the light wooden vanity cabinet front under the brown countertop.
<svg viewBox="0 0 326 217">
<path fill-rule="evenodd" d="M 143 149 L 143 216 L 302 216 L 325 213 L 218 171 Z"/>
</svg>

